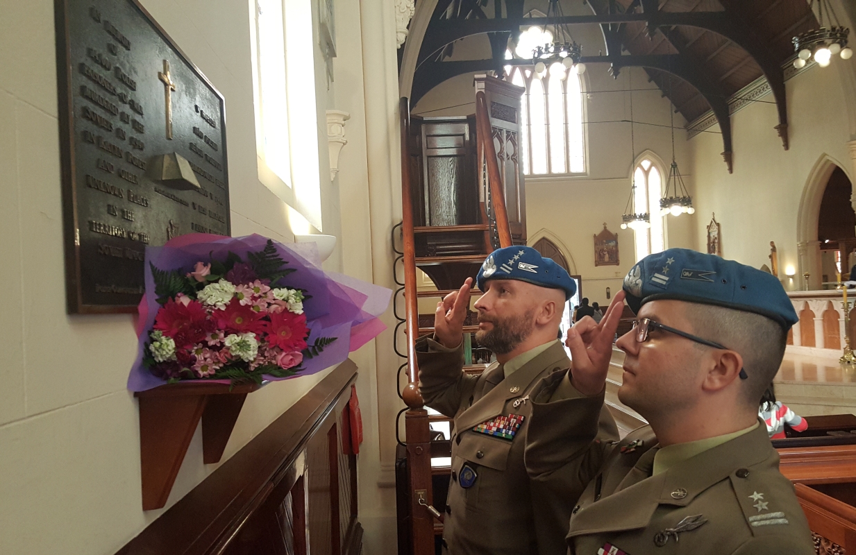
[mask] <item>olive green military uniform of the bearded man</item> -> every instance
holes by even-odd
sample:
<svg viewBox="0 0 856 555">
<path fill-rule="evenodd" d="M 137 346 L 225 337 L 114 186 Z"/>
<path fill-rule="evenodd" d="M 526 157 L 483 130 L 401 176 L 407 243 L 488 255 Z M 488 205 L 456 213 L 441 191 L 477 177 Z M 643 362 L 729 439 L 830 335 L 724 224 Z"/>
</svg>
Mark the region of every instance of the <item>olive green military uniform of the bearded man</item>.
<svg viewBox="0 0 856 555">
<path fill-rule="evenodd" d="M 452 555 L 562 555 L 573 505 L 567 496 L 580 495 L 585 484 L 557 496 L 532 484 L 523 462 L 526 428 L 531 416 L 529 393 L 538 381 L 570 361 L 556 341 L 505 377 L 498 363 L 482 375 L 462 372 L 463 349 L 434 351 L 439 345 L 422 339 L 417 344 L 419 391 L 425 404 L 455 418 L 452 477 L 443 524 L 443 542 Z M 513 361 L 509 361 L 512 363 Z M 597 410 L 596 412 L 599 412 Z M 474 431 L 496 417 L 521 416 L 520 428 L 505 439 Z M 566 417 L 566 416 L 562 416 Z M 506 420 L 508 421 L 508 419 Z M 609 412 L 594 417 L 591 434 L 618 439 Z M 465 468 L 466 466 L 466 468 Z M 463 475 L 461 474 L 463 471 Z M 475 473 L 475 479 L 470 471 Z M 443 507 L 439 508 L 443 511 Z"/>
</svg>

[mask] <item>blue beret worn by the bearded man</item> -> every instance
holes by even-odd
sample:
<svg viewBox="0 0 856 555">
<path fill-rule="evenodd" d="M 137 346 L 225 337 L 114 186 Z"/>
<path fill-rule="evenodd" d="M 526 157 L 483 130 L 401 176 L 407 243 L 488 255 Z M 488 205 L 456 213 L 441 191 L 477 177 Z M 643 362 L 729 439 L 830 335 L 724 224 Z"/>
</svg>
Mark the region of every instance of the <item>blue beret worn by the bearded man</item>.
<svg viewBox="0 0 856 555">
<path fill-rule="evenodd" d="M 568 272 L 550 258 L 542 257 L 531 246 L 512 245 L 490 253 L 476 277 L 482 291 L 486 291 L 484 282 L 487 280 L 520 280 L 550 289 L 562 289 L 566 300 L 577 292 L 577 284 Z"/>
</svg>

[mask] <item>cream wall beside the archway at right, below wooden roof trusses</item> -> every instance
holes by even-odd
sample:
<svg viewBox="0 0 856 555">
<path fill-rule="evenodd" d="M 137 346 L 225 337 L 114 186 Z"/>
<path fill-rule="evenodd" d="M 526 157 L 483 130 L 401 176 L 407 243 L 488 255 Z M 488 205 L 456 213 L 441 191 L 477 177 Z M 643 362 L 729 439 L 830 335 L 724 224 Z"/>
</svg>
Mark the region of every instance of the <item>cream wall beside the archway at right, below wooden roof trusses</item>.
<svg viewBox="0 0 856 555">
<path fill-rule="evenodd" d="M 836 56 L 829 68 L 809 68 L 786 82 L 788 151 L 773 129 L 778 120 L 776 105 L 769 103 L 771 95 L 732 115 L 734 174 L 722 164 L 718 135 L 702 133 L 690 140 L 698 245 L 706 245 L 705 226 L 715 212 L 722 224 L 723 257 L 760 268 L 770 264 L 770 241 L 775 241 L 780 276 L 788 265 L 800 271 L 797 215 L 811 169 L 822 156 L 829 156 L 853 181 L 841 74 L 852 62 Z M 784 285 L 800 288 L 799 281 L 786 279 Z"/>
</svg>

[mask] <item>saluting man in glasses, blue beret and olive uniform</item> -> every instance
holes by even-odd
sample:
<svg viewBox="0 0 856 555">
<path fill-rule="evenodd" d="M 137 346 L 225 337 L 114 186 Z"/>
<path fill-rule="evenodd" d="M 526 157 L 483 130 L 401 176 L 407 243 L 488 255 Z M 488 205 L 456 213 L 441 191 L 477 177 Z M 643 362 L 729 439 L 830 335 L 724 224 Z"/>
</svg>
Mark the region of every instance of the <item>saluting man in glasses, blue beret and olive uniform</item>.
<svg viewBox="0 0 856 555">
<path fill-rule="evenodd" d="M 650 425 L 597 441 L 625 297 L 639 319 L 616 343 L 626 353 L 618 397 Z M 600 324 L 571 328 L 572 369 L 533 389 L 526 438 L 533 479 L 556 491 L 588 483 L 568 499 L 570 553 L 814 552 L 758 421 L 796 321 L 774 276 L 670 249 L 633 267 Z"/>
</svg>

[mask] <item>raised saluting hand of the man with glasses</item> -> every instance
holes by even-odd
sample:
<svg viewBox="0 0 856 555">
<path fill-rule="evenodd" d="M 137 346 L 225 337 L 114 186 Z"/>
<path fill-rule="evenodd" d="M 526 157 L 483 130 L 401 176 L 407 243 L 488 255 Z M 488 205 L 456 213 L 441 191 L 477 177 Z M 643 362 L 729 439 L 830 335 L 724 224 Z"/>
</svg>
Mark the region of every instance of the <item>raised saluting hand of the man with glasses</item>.
<svg viewBox="0 0 856 555">
<path fill-rule="evenodd" d="M 571 383 L 584 395 L 603 391 L 612 357 L 612 340 L 624 309 L 623 291 L 618 292 L 600 323 L 586 316 L 568 329 L 565 345 L 571 350 Z"/>
</svg>

